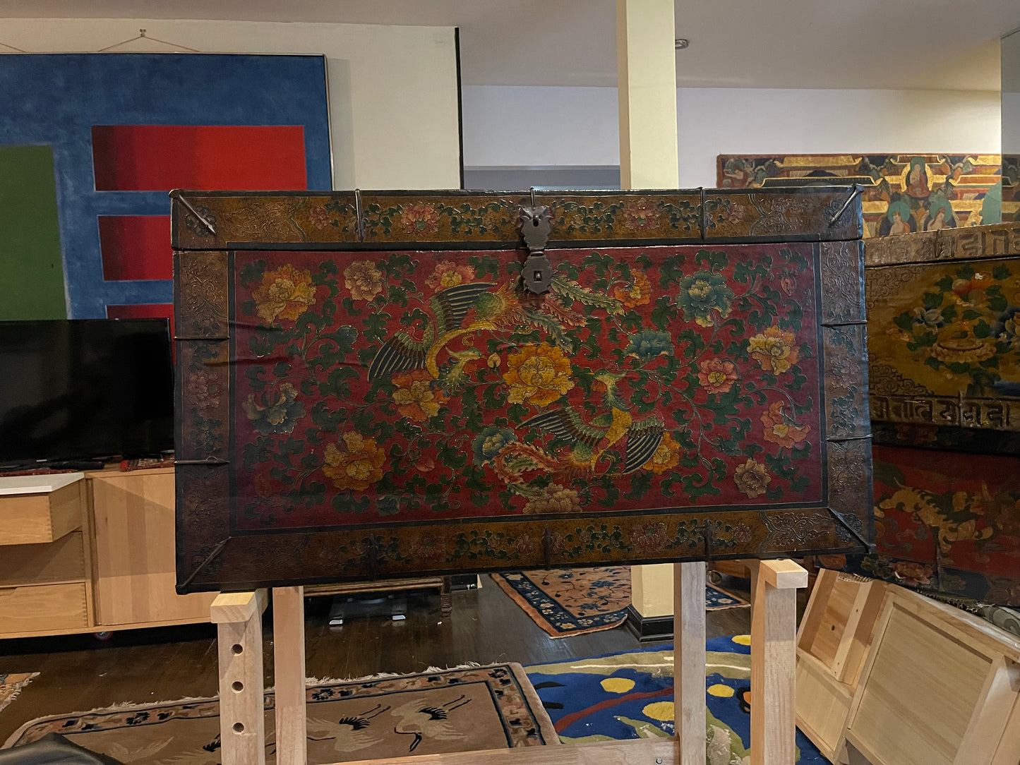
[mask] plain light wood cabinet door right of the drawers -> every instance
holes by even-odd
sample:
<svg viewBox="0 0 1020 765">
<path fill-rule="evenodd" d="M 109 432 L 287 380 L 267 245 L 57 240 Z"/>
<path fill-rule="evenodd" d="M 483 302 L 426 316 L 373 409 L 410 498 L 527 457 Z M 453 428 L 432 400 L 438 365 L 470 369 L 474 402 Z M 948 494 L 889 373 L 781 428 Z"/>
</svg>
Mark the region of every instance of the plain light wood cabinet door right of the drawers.
<svg viewBox="0 0 1020 765">
<path fill-rule="evenodd" d="M 208 618 L 215 594 L 174 590 L 173 471 L 94 474 L 97 621 Z"/>
</svg>

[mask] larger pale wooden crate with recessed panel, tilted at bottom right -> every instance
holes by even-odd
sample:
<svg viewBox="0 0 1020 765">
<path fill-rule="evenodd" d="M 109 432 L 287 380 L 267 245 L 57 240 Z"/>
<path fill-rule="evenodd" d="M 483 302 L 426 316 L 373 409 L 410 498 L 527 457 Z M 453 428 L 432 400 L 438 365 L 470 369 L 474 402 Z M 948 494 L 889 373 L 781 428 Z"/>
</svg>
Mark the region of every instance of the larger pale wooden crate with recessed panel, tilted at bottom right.
<svg viewBox="0 0 1020 765">
<path fill-rule="evenodd" d="M 1020 641 L 889 586 L 847 742 L 872 765 L 1016 765 Z"/>
</svg>

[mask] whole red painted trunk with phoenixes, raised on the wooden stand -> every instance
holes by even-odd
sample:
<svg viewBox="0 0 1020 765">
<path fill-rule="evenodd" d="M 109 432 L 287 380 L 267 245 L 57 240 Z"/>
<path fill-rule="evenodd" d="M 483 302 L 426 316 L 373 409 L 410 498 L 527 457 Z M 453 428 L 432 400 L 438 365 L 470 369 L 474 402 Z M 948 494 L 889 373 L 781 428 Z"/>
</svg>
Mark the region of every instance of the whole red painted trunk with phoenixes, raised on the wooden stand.
<svg viewBox="0 0 1020 765">
<path fill-rule="evenodd" d="M 173 201 L 182 592 L 863 552 L 860 200 Z"/>
</svg>

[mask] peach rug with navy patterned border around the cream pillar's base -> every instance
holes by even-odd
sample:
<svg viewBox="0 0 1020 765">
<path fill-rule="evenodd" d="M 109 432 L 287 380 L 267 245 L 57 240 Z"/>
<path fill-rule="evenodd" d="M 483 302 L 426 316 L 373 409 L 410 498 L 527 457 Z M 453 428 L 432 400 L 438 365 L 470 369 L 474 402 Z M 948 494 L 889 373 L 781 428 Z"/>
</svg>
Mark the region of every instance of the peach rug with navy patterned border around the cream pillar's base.
<svg viewBox="0 0 1020 765">
<path fill-rule="evenodd" d="M 509 571 L 492 577 L 552 638 L 612 629 L 627 618 L 629 566 Z M 707 610 L 746 605 L 746 600 L 705 583 Z"/>
</svg>

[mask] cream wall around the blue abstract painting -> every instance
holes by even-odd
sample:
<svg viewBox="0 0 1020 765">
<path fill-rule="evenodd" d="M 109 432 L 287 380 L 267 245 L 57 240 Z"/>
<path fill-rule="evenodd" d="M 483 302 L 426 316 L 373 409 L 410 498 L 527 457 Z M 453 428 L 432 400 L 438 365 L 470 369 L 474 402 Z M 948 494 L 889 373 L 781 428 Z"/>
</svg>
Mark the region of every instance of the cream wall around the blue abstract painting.
<svg viewBox="0 0 1020 765">
<path fill-rule="evenodd" d="M 166 19 L 5 18 L 2 42 L 30 53 L 98 51 L 138 36 L 203 53 L 327 58 L 334 188 L 460 186 L 452 28 Z M 9 52 L 9 49 L 2 49 Z M 140 41 L 118 51 L 170 51 Z"/>
</svg>

